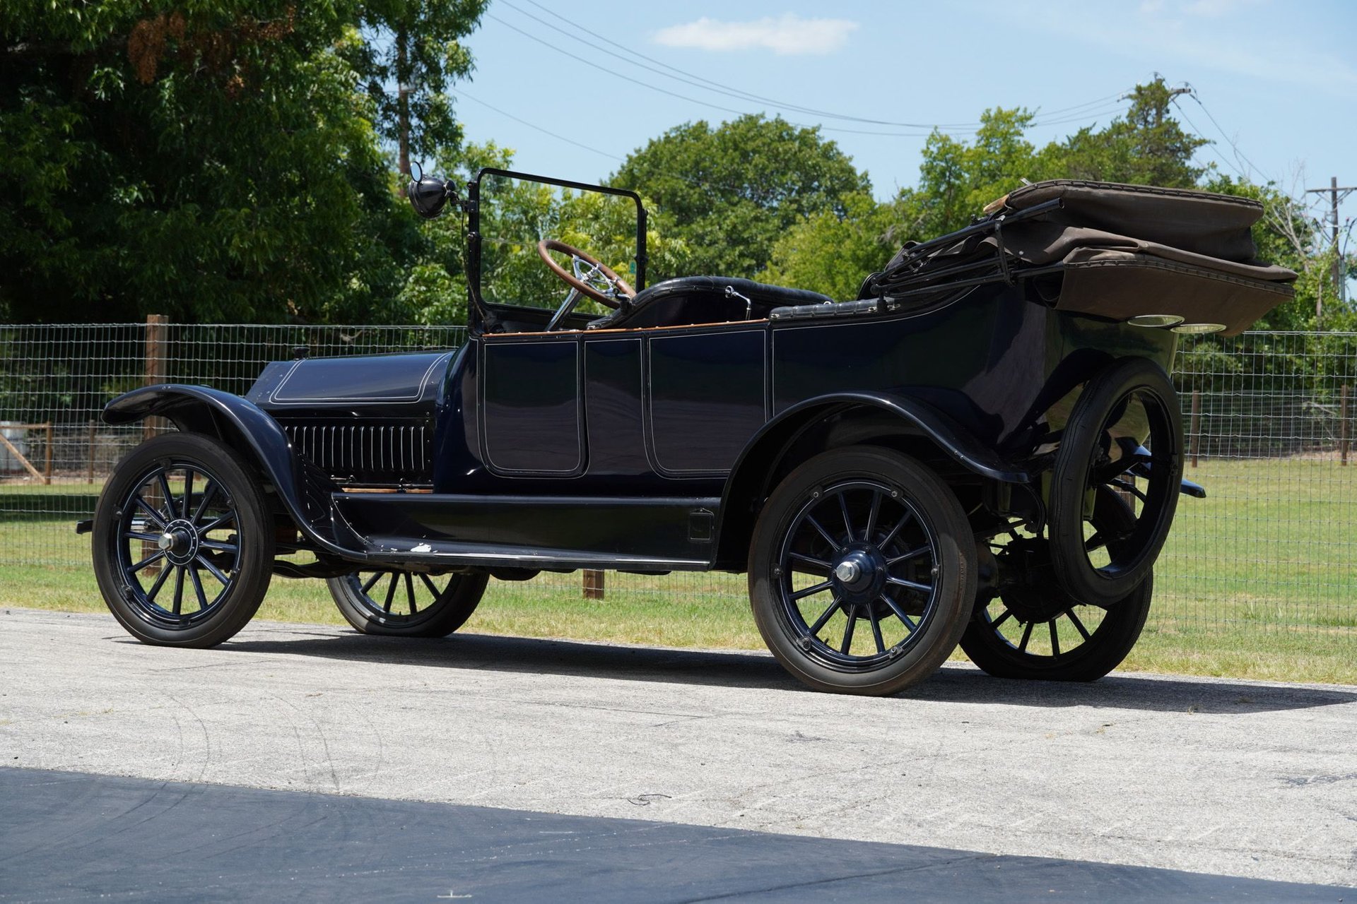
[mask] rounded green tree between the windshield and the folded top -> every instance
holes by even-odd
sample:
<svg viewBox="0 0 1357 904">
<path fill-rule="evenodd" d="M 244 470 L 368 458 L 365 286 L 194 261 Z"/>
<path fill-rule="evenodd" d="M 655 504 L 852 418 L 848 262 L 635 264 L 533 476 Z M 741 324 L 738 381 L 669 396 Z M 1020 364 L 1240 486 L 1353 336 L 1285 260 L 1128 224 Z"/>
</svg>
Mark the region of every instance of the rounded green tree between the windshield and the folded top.
<svg viewBox="0 0 1357 904">
<path fill-rule="evenodd" d="M 754 276 L 773 243 L 807 215 L 843 217 L 871 190 L 818 129 L 745 115 L 712 129 L 676 126 L 634 152 L 611 178 L 655 205 L 658 229 L 681 239 L 695 272 Z M 680 275 L 661 266 L 653 278 Z"/>
</svg>

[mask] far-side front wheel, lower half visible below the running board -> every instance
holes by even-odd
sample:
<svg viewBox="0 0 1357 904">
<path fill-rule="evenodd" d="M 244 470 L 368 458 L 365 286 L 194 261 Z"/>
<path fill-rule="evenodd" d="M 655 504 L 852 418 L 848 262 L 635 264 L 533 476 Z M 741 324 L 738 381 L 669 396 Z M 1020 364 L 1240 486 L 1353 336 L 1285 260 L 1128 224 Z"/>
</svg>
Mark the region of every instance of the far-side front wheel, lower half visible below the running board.
<svg viewBox="0 0 1357 904">
<path fill-rule="evenodd" d="M 446 637 L 476 611 L 489 580 L 484 573 L 362 569 L 326 584 L 339 613 L 364 634 Z"/>
</svg>

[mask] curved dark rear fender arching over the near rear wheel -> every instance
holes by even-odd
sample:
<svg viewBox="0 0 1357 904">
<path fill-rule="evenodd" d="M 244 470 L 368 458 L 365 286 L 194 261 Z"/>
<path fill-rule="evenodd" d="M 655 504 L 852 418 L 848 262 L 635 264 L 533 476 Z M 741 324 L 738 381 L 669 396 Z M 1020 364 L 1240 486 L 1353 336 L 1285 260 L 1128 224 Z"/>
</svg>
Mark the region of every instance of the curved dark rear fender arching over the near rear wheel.
<svg viewBox="0 0 1357 904">
<path fill-rule="evenodd" d="M 764 424 L 735 462 L 726 481 L 716 533 L 716 567 L 742 571 L 749 537 L 761 501 L 788 465 L 797 442 L 809 430 L 836 415 L 854 411 L 886 422 L 889 430 L 917 438 L 939 458 L 947 458 L 980 477 L 1007 482 L 1030 482 L 1030 474 L 1003 461 L 988 445 L 932 405 L 908 396 L 879 393 L 836 393 L 806 400 Z"/>
</svg>

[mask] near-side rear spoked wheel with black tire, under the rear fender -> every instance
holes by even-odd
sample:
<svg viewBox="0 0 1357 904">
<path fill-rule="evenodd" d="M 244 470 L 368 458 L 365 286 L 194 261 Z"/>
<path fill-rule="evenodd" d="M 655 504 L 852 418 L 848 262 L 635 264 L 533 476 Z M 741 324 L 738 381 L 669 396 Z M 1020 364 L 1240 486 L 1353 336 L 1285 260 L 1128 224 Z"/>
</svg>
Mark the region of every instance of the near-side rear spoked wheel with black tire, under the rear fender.
<svg viewBox="0 0 1357 904">
<path fill-rule="evenodd" d="M 928 468 L 887 449 L 832 450 L 788 474 L 760 514 L 749 600 L 768 649 L 801 682 L 894 694 L 955 649 L 974 556 L 961 504 Z"/>
</svg>

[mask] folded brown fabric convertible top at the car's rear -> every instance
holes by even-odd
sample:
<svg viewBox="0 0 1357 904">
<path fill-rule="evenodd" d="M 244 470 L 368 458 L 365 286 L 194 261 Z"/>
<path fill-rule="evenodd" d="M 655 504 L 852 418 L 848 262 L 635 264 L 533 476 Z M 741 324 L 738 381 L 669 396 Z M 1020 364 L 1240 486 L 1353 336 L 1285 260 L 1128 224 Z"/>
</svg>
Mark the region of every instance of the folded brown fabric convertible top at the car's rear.
<svg viewBox="0 0 1357 904">
<path fill-rule="evenodd" d="M 1025 186 L 966 229 L 905 245 L 863 297 L 932 295 L 1041 278 L 1057 310 L 1147 314 L 1247 329 L 1293 295 L 1296 274 L 1257 259 L 1263 207 L 1205 191 L 1056 180 Z"/>
</svg>

